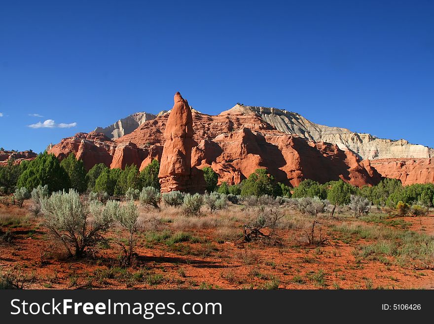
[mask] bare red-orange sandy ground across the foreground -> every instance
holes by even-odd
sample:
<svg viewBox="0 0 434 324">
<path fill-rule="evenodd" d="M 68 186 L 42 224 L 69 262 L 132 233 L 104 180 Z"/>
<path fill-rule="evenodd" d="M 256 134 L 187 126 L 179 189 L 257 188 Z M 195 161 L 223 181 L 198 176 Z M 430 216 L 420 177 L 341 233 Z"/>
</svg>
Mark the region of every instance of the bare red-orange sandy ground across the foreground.
<svg viewBox="0 0 434 324">
<path fill-rule="evenodd" d="M 26 217 L 28 213 L 27 208 L 0 206 L 0 216 Z M 433 216 L 403 219 L 412 223 L 410 230 L 428 235 L 434 233 Z M 285 289 L 434 288 L 433 270 L 385 265 L 366 259 L 357 261 L 353 254 L 355 247 L 371 242 L 356 238 L 344 243 L 330 227 L 332 239 L 321 247 L 294 244 L 289 238 L 301 233 L 292 229 L 279 231 L 283 245 L 271 247 L 260 242 L 218 243 L 214 233 L 216 229 L 187 229 L 184 232 L 204 238 L 207 243 L 179 243 L 176 246 L 183 250 L 178 252 L 169 251 L 164 243 L 149 243 L 142 235 L 135 250 L 135 265 L 127 271 L 134 274 L 142 269 L 145 279 L 139 275 L 135 279 L 131 279 L 131 275 L 126 279 L 120 274 L 101 279 L 95 277 L 95 271 L 118 266 L 116 258 L 120 250 L 115 244 L 100 248 L 93 256 L 66 258 L 62 246 L 50 239 L 47 230 L 38 225 L 40 220 L 36 217 L 19 227 L 1 227 L 3 232 L 11 231 L 14 240 L 0 243 L 0 272 L 33 276 L 34 280 L 25 288 L 240 289 L 264 288 L 275 278 L 278 278 L 278 282 L 274 281 L 278 288 Z M 327 220 L 330 226 L 341 223 L 341 220 Z M 160 224 L 158 230 L 171 229 L 171 226 L 171 223 Z M 118 231 L 114 228 L 109 235 L 114 237 Z M 312 274 L 320 276 L 315 278 Z M 146 276 L 157 280 L 152 282 Z"/>
</svg>

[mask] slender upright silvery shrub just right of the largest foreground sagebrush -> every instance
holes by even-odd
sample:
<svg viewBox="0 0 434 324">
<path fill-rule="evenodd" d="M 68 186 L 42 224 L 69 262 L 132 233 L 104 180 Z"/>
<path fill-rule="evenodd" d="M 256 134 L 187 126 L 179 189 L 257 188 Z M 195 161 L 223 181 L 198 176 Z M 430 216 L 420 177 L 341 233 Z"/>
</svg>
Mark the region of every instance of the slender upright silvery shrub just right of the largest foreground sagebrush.
<svg viewBox="0 0 434 324">
<path fill-rule="evenodd" d="M 151 187 L 153 188 L 153 187 Z M 154 188 L 155 189 L 155 188 Z M 116 243 L 122 248 L 124 252 L 124 264 L 131 265 L 134 257 L 134 246 L 136 245 L 135 234 L 139 230 L 139 210 L 134 204 L 133 200 L 130 200 L 126 206 L 122 206 L 118 209 L 114 218 L 128 231 L 128 242 L 124 244 L 121 240 Z"/>
</svg>

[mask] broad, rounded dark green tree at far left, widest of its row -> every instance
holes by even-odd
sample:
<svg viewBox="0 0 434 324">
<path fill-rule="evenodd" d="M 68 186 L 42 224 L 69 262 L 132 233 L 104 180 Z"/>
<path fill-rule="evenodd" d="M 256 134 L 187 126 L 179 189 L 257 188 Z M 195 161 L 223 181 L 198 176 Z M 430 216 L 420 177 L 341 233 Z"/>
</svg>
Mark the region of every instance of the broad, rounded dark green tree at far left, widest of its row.
<svg viewBox="0 0 434 324">
<path fill-rule="evenodd" d="M 35 160 L 20 164 L 22 173 L 17 181 L 17 187 L 33 190 L 39 184 L 48 185 L 48 190 L 58 191 L 69 189 L 71 180 L 63 166 L 54 154 L 46 152 L 39 154 Z"/>
</svg>

